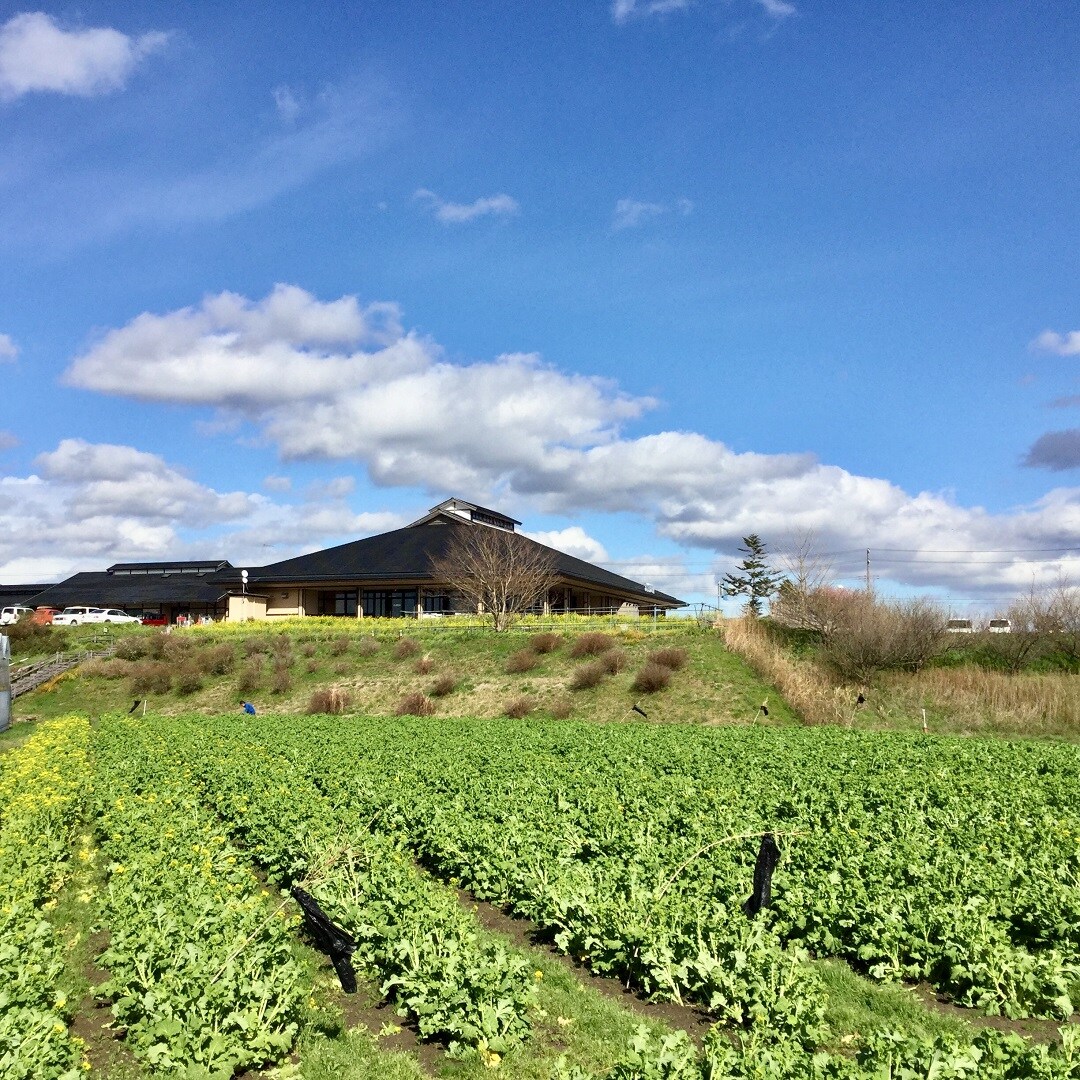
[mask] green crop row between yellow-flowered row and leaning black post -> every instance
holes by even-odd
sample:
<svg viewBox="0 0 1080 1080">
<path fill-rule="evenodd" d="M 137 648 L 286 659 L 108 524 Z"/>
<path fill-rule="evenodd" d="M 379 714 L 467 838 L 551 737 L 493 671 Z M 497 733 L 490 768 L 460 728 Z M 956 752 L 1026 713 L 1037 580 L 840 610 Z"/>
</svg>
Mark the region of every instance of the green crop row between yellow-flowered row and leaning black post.
<svg viewBox="0 0 1080 1080">
<path fill-rule="evenodd" d="M 137 724 L 95 732 L 110 944 L 99 993 L 152 1068 L 228 1078 L 281 1061 L 307 997 L 298 917 L 267 896 L 215 815 Z"/>
</svg>

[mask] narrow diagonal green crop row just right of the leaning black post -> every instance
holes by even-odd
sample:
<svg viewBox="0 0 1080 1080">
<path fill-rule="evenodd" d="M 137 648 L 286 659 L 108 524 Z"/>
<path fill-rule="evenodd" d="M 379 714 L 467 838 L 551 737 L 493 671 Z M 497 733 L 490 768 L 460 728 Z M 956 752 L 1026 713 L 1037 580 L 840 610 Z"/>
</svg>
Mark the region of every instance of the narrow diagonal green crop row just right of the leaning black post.
<svg viewBox="0 0 1080 1080">
<path fill-rule="evenodd" d="M 531 971 L 482 935 L 453 891 L 419 872 L 368 818 L 333 808 L 266 746 L 226 744 L 204 727 L 154 720 L 158 760 L 190 778 L 274 881 L 315 897 L 421 1035 L 501 1054 L 528 1034 Z"/>
</svg>

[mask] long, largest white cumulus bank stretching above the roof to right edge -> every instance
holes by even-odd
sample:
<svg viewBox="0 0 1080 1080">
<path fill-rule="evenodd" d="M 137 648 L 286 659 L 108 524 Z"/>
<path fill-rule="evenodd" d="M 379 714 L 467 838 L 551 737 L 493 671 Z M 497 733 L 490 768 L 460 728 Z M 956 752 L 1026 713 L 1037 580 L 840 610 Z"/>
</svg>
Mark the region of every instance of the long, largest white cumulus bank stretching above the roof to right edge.
<svg viewBox="0 0 1080 1080">
<path fill-rule="evenodd" d="M 725 557 L 750 532 L 813 531 L 829 550 L 907 549 L 896 572 L 909 584 L 1023 588 L 1042 563 L 1017 554 L 984 566 L 934 553 L 1080 542 L 1080 489 L 990 514 L 811 454 L 735 453 L 689 431 L 630 437 L 624 426 L 651 399 L 531 354 L 449 363 L 402 327 L 393 306 L 320 301 L 295 286 L 260 301 L 222 294 L 139 315 L 78 357 L 68 380 L 215 406 L 254 424 L 285 459 L 359 462 L 379 485 L 490 492 L 570 518 L 631 514 L 683 548 Z M 553 546 L 589 546 L 583 535 L 558 536 Z"/>
</svg>

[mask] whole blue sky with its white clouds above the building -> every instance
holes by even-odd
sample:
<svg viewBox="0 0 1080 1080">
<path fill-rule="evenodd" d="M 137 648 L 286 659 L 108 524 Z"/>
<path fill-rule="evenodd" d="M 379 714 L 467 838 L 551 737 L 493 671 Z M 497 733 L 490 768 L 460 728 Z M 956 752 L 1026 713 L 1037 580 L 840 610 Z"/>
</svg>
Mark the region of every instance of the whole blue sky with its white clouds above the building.
<svg viewBox="0 0 1080 1080">
<path fill-rule="evenodd" d="M 755 531 L 1080 581 L 1066 0 L 0 5 L 0 581 L 448 496 L 689 599 Z"/>
</svg>

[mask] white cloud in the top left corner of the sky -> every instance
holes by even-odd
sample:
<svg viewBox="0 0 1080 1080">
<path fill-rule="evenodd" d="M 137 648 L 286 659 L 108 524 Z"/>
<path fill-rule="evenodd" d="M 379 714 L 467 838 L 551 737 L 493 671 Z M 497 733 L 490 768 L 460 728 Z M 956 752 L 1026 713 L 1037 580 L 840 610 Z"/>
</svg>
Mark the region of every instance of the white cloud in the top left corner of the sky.
<svg viewBox="0 0 1080 1080">
<path fill-rule="evenodd" d="M 33 91 L 91 97 L 121 90 L 135 65 L 167 41 L 108 27 L 64 29 L 44 12 L 14 15 L 0 27 L 0 99 Z"/>
</svg>

